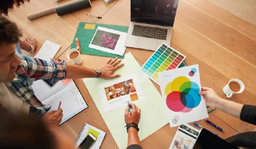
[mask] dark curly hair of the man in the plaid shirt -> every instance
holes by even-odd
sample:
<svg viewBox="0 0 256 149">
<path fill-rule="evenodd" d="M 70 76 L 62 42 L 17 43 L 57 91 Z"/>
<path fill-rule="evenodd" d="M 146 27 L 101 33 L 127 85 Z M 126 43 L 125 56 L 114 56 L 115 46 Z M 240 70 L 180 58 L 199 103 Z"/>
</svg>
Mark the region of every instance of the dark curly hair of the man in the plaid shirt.
<svg viewBox="0 0 256 149">
<path fill-rule="evenodd" d="M 0 44 L 18 43 L 21 32 L 15 23 L 9 21 L 4 16 L 0 16 Z"/>
</svg>

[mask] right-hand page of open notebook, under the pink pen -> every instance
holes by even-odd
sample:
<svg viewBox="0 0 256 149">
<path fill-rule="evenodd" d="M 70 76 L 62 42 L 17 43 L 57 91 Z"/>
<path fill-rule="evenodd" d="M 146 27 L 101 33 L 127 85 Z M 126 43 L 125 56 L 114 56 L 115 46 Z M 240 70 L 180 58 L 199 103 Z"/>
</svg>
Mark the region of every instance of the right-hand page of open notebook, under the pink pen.
<svg viewBox="0 0 256 149">
<path fill-rule="evenodd" d="M 51 109 L 48 111 L 50 112 L 58 110 L 58 106 L 61 101 L 60 107 L 63 110 L 63 118 L 60 124 L 74 117 L 77 113 L 88 107 L 74 81 L 72 82 L 73 83 L 66 85 L 64 89 L 42 102 L 43 104 L 51 105 Z"/>
</svg>

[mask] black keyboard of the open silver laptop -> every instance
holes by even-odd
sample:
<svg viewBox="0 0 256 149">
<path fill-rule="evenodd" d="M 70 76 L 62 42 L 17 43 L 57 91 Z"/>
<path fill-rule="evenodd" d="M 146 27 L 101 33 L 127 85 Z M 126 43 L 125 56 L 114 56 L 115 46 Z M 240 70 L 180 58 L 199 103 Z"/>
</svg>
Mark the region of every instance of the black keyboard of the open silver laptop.
<svg viewBox="0 0 256 149">
<path fill-rule="evenodd" d="M 134 25 L 132 35 L 166 40 L 167 29 Z"/>
</svg>

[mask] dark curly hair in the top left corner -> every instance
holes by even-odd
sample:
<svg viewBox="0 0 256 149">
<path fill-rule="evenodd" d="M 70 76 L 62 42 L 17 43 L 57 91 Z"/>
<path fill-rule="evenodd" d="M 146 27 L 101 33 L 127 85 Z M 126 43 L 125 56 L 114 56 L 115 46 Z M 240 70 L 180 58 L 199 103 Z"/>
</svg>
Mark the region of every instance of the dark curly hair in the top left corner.
<svg viewBox="0 0 256 149">
<path fill-rule="evenodd" d="M 13 9 L 13 5 L 20 6 L 25 1 L 29 2 L 30 0 L 0 0 L 0 10 L 3 10 L 4 14 L 8 14 L 8 9 Z"/>
</svg>

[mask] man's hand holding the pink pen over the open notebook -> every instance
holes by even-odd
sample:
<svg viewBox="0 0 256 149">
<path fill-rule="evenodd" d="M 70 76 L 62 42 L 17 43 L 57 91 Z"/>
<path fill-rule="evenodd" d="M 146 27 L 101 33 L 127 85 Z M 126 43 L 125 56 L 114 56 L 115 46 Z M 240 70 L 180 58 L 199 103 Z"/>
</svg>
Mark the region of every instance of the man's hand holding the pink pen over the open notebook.
<svg viewBox="0 0 256 149">
<path fill-rule="evenodd" d="M 63 113 L 62 113 L 62 109 L 60 108 L 58 111 L 54 110 L 54 111 L 45 113 L 43 116 L 43 119 L 50 126 L 59 126 L 62 120 L 62 117 L 63 117 Z"/>
</svg>

